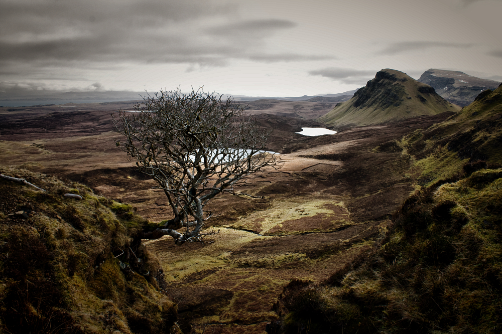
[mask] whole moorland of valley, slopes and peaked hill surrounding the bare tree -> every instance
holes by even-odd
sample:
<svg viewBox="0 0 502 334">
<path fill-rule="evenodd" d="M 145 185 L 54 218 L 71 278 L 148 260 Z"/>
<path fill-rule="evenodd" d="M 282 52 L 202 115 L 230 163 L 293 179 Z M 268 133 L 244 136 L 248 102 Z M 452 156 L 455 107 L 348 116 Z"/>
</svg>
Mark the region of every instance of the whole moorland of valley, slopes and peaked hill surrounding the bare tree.
<svg viewBox="0 0 502 334">
<path fill-rule="evenodd" d="M 3 247 L 20 252 L 9 240 L 27 238 L 48 254 L 45 267 L 3 280 L 2 307 L 16 286 L 16 305 L 31 318 L 0 324 L 44 326 L 48 315 L 33 306 L 44 296 L 20 287 L 38 277 L 48 291 L 80 291 L 45 308 L 73 332 L 497 332 L 502 88 L 459 111 L 412 80 L 384 71 L 341 105 L 249 102 L 273 130 L 267 148 L 280 153 L 280 169 L 239 189 L 253 197 L 227 194 L 211 203 L 216 215 L 207 228 L 218 233 L 205 246 L 130 237 L 171 217 L 165 195 L 115 146 L 110 113 L 130 110 L 131 102 L 0 108 L 2 174 L 59 195 L 73 190 L 94 210 L 0 180 L 12 194 L 0 198 Z M 331 117 L 335 135 L 296 133 L 324 127 L 333 113 L 346 120 L 340 110 L 354 104 L 398 114 L 354 124 L 365 119 L 357 115 L 339 127 Z M 415 112 L 426 104 L 434 112 Z M 29 210 L 29 218 L 16 215 Z M 86 240 L 93 246 L 82 248 Z M 126 260 L 124 245 L 148 265 Z M 37 259 L 37 249 L 14 263 Z M 88 258 L 77 256 L 83 253 Z M 76 269 L 56 270 L 58 261 Z"/>
</svg>

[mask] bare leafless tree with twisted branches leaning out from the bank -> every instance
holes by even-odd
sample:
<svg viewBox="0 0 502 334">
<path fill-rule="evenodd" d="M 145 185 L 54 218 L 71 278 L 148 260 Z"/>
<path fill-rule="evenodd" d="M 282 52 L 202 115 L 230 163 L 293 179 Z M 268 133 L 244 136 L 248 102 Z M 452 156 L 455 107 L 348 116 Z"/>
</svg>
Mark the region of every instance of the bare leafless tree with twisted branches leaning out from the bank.
<svg viewBox="0 0 502 334">
<path fill-rule="evenodd" d="M 176 244 L 204 242 L 204 206 L 221 192 L 245 183 L 250 174 L 274 166 L 265 152 L 270 133 L 245 116 L 232 98 L 199 88 L 190 93 L 160 91 L 144 97 L 136 112 L 113 115 L 117 142 L 141 173 L 164 190 L 174 218 L 144 239 L 170 235 Z M 235 193 L 234 193 L 235 194 Z M 184 233 L 176 230 L 184 228 Z"/>
</svg>

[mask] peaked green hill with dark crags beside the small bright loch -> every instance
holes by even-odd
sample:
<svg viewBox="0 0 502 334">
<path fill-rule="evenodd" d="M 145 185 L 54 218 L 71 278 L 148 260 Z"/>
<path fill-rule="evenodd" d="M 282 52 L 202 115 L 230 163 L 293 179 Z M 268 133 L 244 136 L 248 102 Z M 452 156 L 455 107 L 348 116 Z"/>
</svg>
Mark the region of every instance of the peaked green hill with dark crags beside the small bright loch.
<svg viewBox="0 0 502 334">
<path fill-rule="evenodd" d="M 385 69 L 377 72 L 375 78 L 355 92 L 350 100 L 337 104 L 319 121 L 342 129 L 457 110 L 432 87 L 403 72 Z"/>
</svg>

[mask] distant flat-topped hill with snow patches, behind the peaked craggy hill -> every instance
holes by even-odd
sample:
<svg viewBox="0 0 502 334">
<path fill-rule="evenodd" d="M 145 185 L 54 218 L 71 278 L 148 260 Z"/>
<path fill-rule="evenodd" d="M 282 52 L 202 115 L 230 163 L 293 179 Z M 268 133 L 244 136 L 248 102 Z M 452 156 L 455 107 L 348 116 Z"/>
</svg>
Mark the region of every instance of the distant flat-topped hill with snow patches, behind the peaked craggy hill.
<svg viewBox="0 0 502 334">
<path fill-rule="evenodd" d="M 476 78 L 464 72 L 429 69 L 418 81 L 428 84 L 436 93 L 451 103 L 464 107 L 470 104 L 483 90 L 494 90 L 499 82 Z"/>
</svg>

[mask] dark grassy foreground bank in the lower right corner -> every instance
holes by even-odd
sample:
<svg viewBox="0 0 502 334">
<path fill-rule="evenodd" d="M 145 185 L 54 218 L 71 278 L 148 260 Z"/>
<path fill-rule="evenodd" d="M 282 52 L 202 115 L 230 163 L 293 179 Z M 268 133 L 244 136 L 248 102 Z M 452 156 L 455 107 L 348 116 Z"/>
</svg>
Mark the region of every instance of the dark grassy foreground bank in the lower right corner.
<svg viewBox="0 0 502 334">
<path fill-rule="evenodd" d="M 502 169 L 420 191 L 394 215 L 394 232 L 352 268 L 326 284 L 285 288 L 281 331 L 499 333 L 501 217 Z"/>
</svg>

